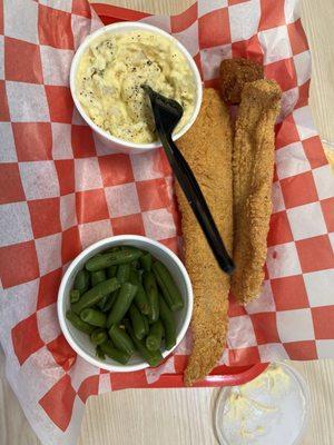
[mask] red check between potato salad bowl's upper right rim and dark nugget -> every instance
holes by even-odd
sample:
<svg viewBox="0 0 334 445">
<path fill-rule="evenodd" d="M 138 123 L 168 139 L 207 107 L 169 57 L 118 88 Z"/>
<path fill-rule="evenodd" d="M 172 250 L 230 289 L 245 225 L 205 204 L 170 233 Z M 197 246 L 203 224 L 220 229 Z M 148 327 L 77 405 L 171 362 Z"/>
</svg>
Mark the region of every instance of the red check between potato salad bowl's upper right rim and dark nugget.
<svg viewBox="0 0 334 445">
<path fill-rule="evenodd" d="M 199 48 L 230 43 L 228 8 L 217 9 L 198 19 Z"/>
</svg>

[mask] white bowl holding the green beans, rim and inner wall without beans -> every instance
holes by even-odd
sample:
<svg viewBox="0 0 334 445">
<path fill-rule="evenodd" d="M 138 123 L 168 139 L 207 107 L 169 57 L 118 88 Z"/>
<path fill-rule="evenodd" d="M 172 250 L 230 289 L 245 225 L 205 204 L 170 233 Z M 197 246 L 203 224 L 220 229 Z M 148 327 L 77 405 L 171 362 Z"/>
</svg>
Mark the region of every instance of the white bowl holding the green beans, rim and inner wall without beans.
<svg viewBox="0 0 334 445">
<path fill-rule="evenodd" d="M 143 236 L 119 235 L 101 239 L 100 241 L 87 247 L 87 249 L 81 251 L 81 254 L 73 259 L 62 277 L 58 293 L 57 310 L 61 330 L 70 346 L 87 362 L 107 370 L 126 373 L 144 369 L 149 365 L 137 354 L 130 358 L 127 365 L 120 365 L 108 357 L 106 357 L 105 360 L 99 359 L 96 356 L 95 347 L 91 344 L 89 336 L 76 329 L 66 318 L 66 312 L 70 306 L 69 293 L 73 286 L 77 273 L 84 268 L 90 257 L 112 246 L 134 246 L 150 251 L 155 258 L 164 263 L 168 268 L 181 293 L 185 306 L 181 310 L 175 313 L 177 334 L 176 345 L 169 350 L 163 349 L 164 358 L 177 347 L 188 329 L 193 313 L 193 288 L 188 273 L 178 257 L 160 243 Z"/>
</svg>

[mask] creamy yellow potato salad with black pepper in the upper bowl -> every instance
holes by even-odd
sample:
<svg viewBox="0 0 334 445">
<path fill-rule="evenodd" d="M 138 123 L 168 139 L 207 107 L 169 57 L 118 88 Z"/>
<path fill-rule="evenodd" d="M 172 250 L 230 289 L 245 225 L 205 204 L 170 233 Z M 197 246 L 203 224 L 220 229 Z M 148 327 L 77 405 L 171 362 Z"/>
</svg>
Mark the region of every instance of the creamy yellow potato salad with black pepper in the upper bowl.
<svg viewBox="0 0 334 445">
<path fill-rule="evenodd" d="M 183 106 L 179 131 L 194 111 L 196 87 L 186 58 L 169 39 L 148 31 L 106 34 L 84 53 L 76 75 L 79 101 L 98 127 L 149 144 L 157 134 L 143 83 Z"/>
</svg>

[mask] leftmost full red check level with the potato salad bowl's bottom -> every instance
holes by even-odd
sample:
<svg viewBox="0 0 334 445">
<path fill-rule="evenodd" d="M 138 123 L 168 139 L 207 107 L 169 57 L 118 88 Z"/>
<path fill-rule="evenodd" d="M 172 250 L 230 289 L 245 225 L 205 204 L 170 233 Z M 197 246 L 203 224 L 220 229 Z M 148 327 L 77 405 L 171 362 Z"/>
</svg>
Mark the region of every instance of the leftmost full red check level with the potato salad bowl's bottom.
<svg viewBox="0 0 334 445">
<path fill-rule="evenodd" d="M 19 161 L 52 159 L 51 125 L 47 122 L 12 122 Z"/>
</svg>

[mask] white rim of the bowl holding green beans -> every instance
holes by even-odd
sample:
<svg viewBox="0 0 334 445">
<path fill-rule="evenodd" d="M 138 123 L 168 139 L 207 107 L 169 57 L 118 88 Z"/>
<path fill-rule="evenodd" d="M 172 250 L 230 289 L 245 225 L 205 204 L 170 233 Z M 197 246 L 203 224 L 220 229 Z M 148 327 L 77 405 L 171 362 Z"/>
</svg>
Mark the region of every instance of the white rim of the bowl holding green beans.
<svg viewBox="0 0 334 445">
<path fill-rule="evenodd" d="M 153 245 L 160 250 L 163 250 L 165 254 L 167 254 L 174 263 L 176 263 L 176 266 L 180 269 L 181 276 L 185 280 L 186 285 L 186 294 L 187 294 L 187 310 L 185 314 L 185 320 L 181 325 L 181 328 L 179 330 L 179 334 L 177 335 L 176 344 L 171 349 L 164 350 L 163 357 L 164 359 L 169 356 L 174 349 L 177 348 L 177 346 L 180 344 L 183 338 L 186 335 L 186 332 L 189 327 L 191 315 L 193 315 L 193 304 L 194 304 L 194 294 L 193 294 L 193 286 L 191 281 L 189 278 L 189 275 L 187 273 L 187 269 L 185 268 L 184 264 L 181 260 L 178 258 L 178 256 L 170 250 L 168 247 L 164 246 L 161 243 L 156 241 L 154 239 L 150 239 L 145 236 L 140 235 L 117 235 L 108 238 L 102 238 L 97 243 L 94 243 L 92 245 L 88 246 L 86 249 L 84 249 L 69 265 L 67 268 L 66 273 L 63 274 L 61 278 L 61 283 L 59 286 L 58 290 L 58 298 L 57 298 L 57 314 L 58 314 L 58 320 L 60 324 L 61 332 L 69 343 L 69 345 L 72 347 L 72 349 L 84 359 L 86 359 L 88 363 L 91 365 L 95 365 L 101 369 L 110 370 L 110 372 L 122 372 L 122 373 L 130 373 L 135 370 L 140 370 L 149 367 L 149 364 L 146 362 L 143 362 L 138 365 L 120 365 L 115 362 L 115 365 L 107 364 L 98 358 L 91 357 L 89 354 L 86 353 L 85 349 L 82 349 L 73 339 L 73 337 L 70 334 L 70 330 L 67 326 L 67 320 L 65 316 L 65 289 L 69 279 L 69 276 L 71 275 L 72 270 L 80 264 L 87 256 L 90 254 L 92 250 L 97 248 L 102 248 L 106 244 L 110 243 L 112 240 L 114 244 L 119 243 L 119 241 L 128 241 L 129 244 L 131 241 L 140 241 L 145 244 Z"/>
</svg>

